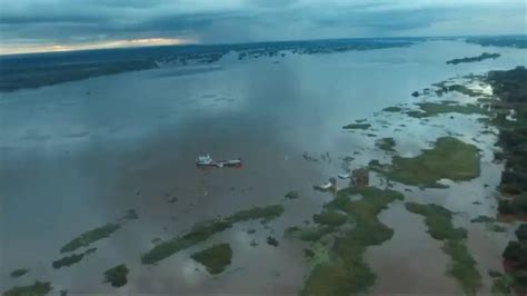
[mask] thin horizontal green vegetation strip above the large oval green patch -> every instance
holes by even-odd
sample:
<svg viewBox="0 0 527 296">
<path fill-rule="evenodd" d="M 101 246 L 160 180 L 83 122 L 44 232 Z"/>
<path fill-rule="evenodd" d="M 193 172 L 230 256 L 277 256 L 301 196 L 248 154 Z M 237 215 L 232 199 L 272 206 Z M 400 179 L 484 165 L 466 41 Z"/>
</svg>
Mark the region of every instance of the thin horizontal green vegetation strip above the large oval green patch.
<svg viewBox="0 0 527 296">
<path fill-rule="evenodd" d="M 459 105 L 451 101 L 443 102 L 418 102 L 418 111 L 407 111 L 406 115 L 414 118 L 434 117 L 444 114 L 463 114 L 463 115 L 487 115 L 488 112 L 477 105 Z"/>
</svg>

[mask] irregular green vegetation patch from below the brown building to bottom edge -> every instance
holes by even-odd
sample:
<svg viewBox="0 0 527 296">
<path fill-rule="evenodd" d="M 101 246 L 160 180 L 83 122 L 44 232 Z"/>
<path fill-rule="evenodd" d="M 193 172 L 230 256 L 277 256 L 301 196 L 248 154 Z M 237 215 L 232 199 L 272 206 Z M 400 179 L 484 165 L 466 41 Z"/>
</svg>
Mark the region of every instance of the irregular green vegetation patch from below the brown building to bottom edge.
<svg viewBox="0 0 527 296">
<path fill-rule="evenodd" d="M 349 197 L 360 195 L 359 200 Z M 400 193 L 375 187 L 347 188 L 337 191 L 337 197 L 326 205 L 328 210 L 347 213 L 355 228 L 335 236 L 326 260 L 319 262 L 308 276 L 305 295 L 350 295 L 365 292 L 375 284 L 376 275 L 364 262 L 368 246 L 389 240 L 394 230 L 381 224 L 377 216 L 388 204 L 402 199 Z"/>
</svg>

